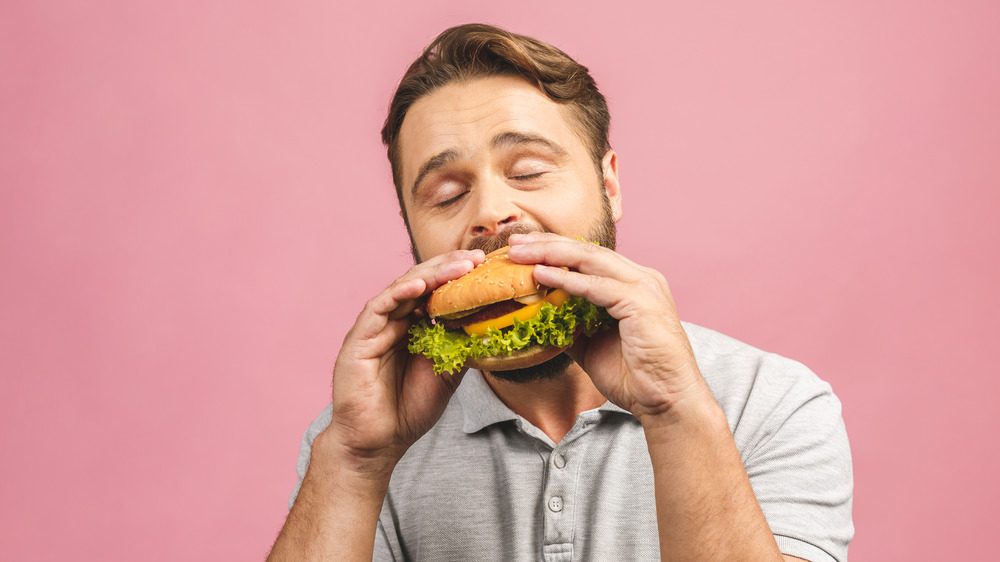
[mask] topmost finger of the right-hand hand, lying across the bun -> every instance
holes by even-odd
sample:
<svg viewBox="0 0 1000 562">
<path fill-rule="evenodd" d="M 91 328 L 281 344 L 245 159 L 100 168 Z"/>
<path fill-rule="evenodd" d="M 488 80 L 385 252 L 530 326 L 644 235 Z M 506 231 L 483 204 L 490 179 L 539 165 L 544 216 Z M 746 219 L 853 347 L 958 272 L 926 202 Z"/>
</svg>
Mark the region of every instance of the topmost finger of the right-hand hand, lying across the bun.
<svg viewBox="0 0 1000 562">
<path fill-rule="evenodd" d="M 568 267 L 581 273 L 631 282 L 642 273 L 621 254 L 596 244 L 548 233 L 511 236 L 512 261 Z"/>
</svg>

